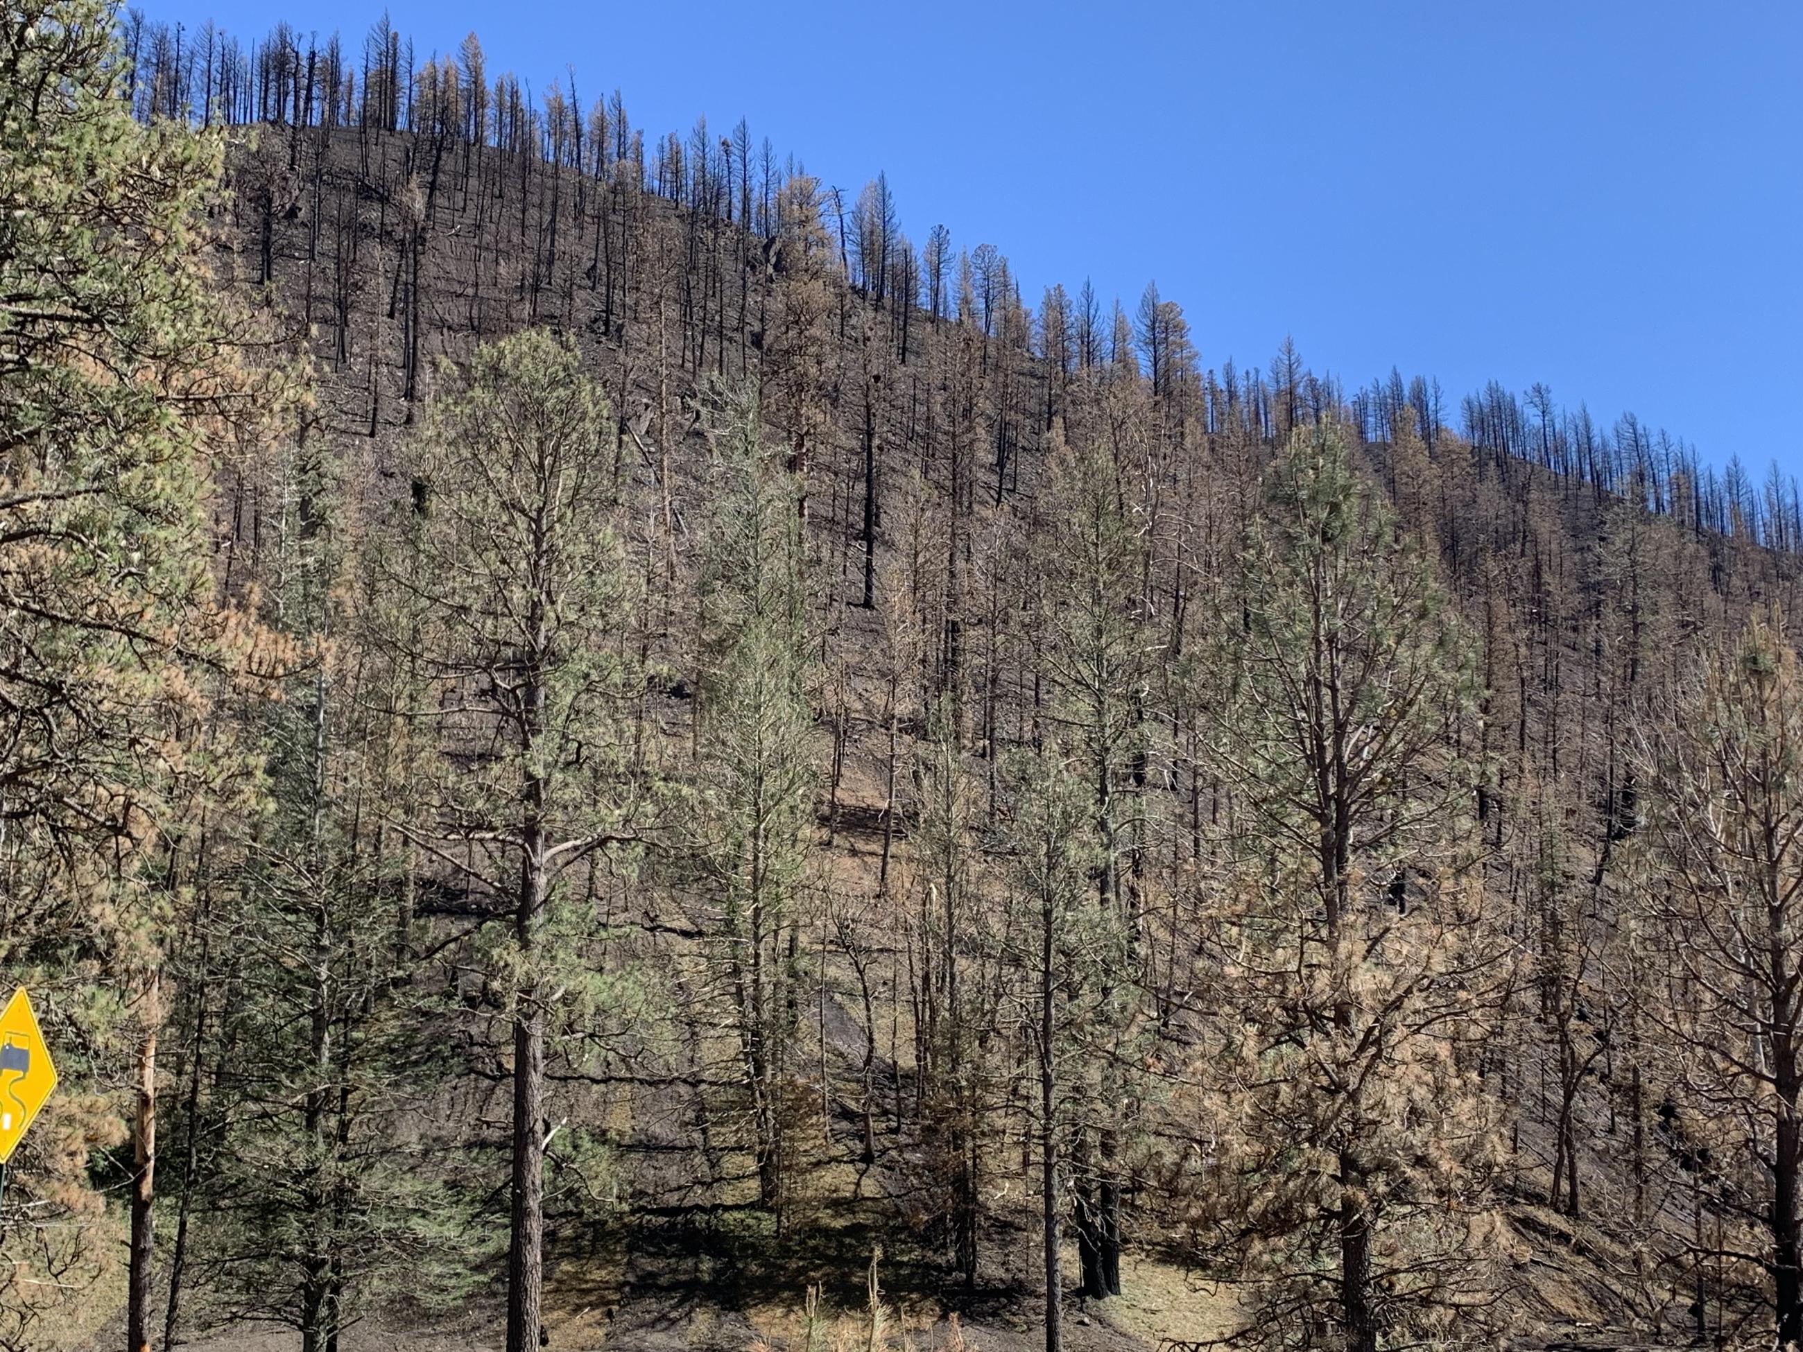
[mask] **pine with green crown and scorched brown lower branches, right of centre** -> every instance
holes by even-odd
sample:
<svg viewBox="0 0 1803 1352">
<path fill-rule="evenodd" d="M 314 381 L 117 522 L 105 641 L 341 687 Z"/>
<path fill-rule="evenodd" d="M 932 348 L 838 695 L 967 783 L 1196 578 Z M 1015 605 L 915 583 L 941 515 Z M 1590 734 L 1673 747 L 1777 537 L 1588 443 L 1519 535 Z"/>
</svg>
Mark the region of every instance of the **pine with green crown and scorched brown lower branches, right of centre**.
<svg viewBox="0 0 1803 1352">
<path fill-rule="evenodd" d="M 1332 424 L 1273 463 L 1242 568 L 1212 754 L 1240 797 L 1215 941 L 1255 1334 L 1347 1352 L 1475 1336 L 1464 1208 L 1493 1145 L 1471 1047 L 1496 948 L 1457 755 L 1466 642 Z"/>
</svg>

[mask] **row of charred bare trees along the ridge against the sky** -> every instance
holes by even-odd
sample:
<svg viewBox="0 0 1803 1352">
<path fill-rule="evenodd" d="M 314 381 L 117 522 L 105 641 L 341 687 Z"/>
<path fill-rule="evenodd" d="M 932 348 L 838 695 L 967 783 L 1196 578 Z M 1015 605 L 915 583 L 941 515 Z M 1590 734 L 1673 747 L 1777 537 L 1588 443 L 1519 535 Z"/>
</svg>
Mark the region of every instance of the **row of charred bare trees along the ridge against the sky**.
<svg viewBox="0 0 1803 1352">
<path fill-rule="evenodd" d="M 754 146 L 743 117 L 725 137 L 712 135 L 701 117 L 687 135 L 667 132 L 647 139 L 644 128 L 631 124 L 618 90 L 595 97 L 584 110 L 575 74 L 554 79 L 534 101 L 514 72 L 490 78 L 476 34 L 462 40 L 456 58 L 418 63 L 411 36 L 386 18 L 364 34 L 361 50 L 350 50 L 339 32 L 321 43 L 317 34 L 303 36 L 287 22 L 245 47 L 211 23 L 182 34 L 139 9 L 126 11 L 124 32 L 137 72 L 130 97 L 139 115 L 182 115 L 204 126 L 418 132 L 435 141 L 433 182 L 447 144 L 494 148 L 575 171 L 577 211 L 588 191 L 582 178 L 608 182 L 629 173 L 658 198 L 750 227 L 770 242 L 779 234 L 783 184 L 806 175 L 793 155 L 779 159 L 768 139 Z M 858 191 L 828 187 L 822 224 L 833 234 L 853 290 L 876 308 L 891 296 L 912 301 L 889 306 L 903 350 L 916 310 L 938 323 L 965 303 L 950 231 L 936 224 L 916 251 L 883 173 Z M 555 231 L 546 240 L 555 247 Z M 1024 310 L 1019 285 L 995 245 L 983 243 L 968 254 L 970 301 L 984 337 L 993 337 L 992 312 L 1004 308 L 1006 292 L 1013 290 L 1013 306 Z M 1103 352 L 1112 359 L 1130 346 L 1156 391 L 1165 393 L 1159 386 L 1168 379 L 1170 357 L 1179 366 L 1185 355 L 1194 357 L 1181 308 L 1159 297 L 1156 281 L 1147 283 L 1130 321 L 1120 299 L 1112 303 L 1114 314 L 1105 314 L 1087 279 L 1073 305 L 1062 283 L 1046 288 L 1040 312 L 1031 317 L 1037 355 L 1060 368 L 1089 368 Z M 685 303 L 692 305 L 692 296 L 685 294 Z M 739 317 L 743 323 L 743 306 Z M 1172 344 L 1176 352 L 1168 353 Z M 1311 393 L 1311 382 L 1325 382 L 1329 389 Z M 1648 427 L 1632 411 L 1605 425 L 1583 402 L 1561 406 L 1543 382 L 1513 391 L 1489 380 L 1484 389 L 1457 397 L 1457 407 L 1432 375 L 1405 379 L 1396 368 L 1350 395 L 1336 377 L 1320 382 L 1293 357 L 1280 357 L 1269 371 L 1239 368 L 1228 357 L 1219 368 L 1221 389 L 1208 391 L 1210 402 L 1219 400 L 1226 409 L 1212 409 L 1210 416 L 1231 416 L 1239 407 L 1239 416 L 1258 420 L 1262 431 L 1284 433 L 1300 398 L 1314 407 L 1323 400 L 1349 402 L 1370 442 L 1387 442 L 1406 415 L 1430 447 L 1442 431 L 1453 431 L 1495 456 L 1498 474 L 1507 474 L 1513 460 L 1525 460 L 1588 487 L 1597 498 L 1635 498 L 1697 530 L 1745 535 L 1776 548 L 1803 544 L 1798 476 L 1783 474 L 1776 458 L 1762 478 L 1738 449 L 1725 460 L 1704 458 L 1695 445 Z"/>
</svg>

